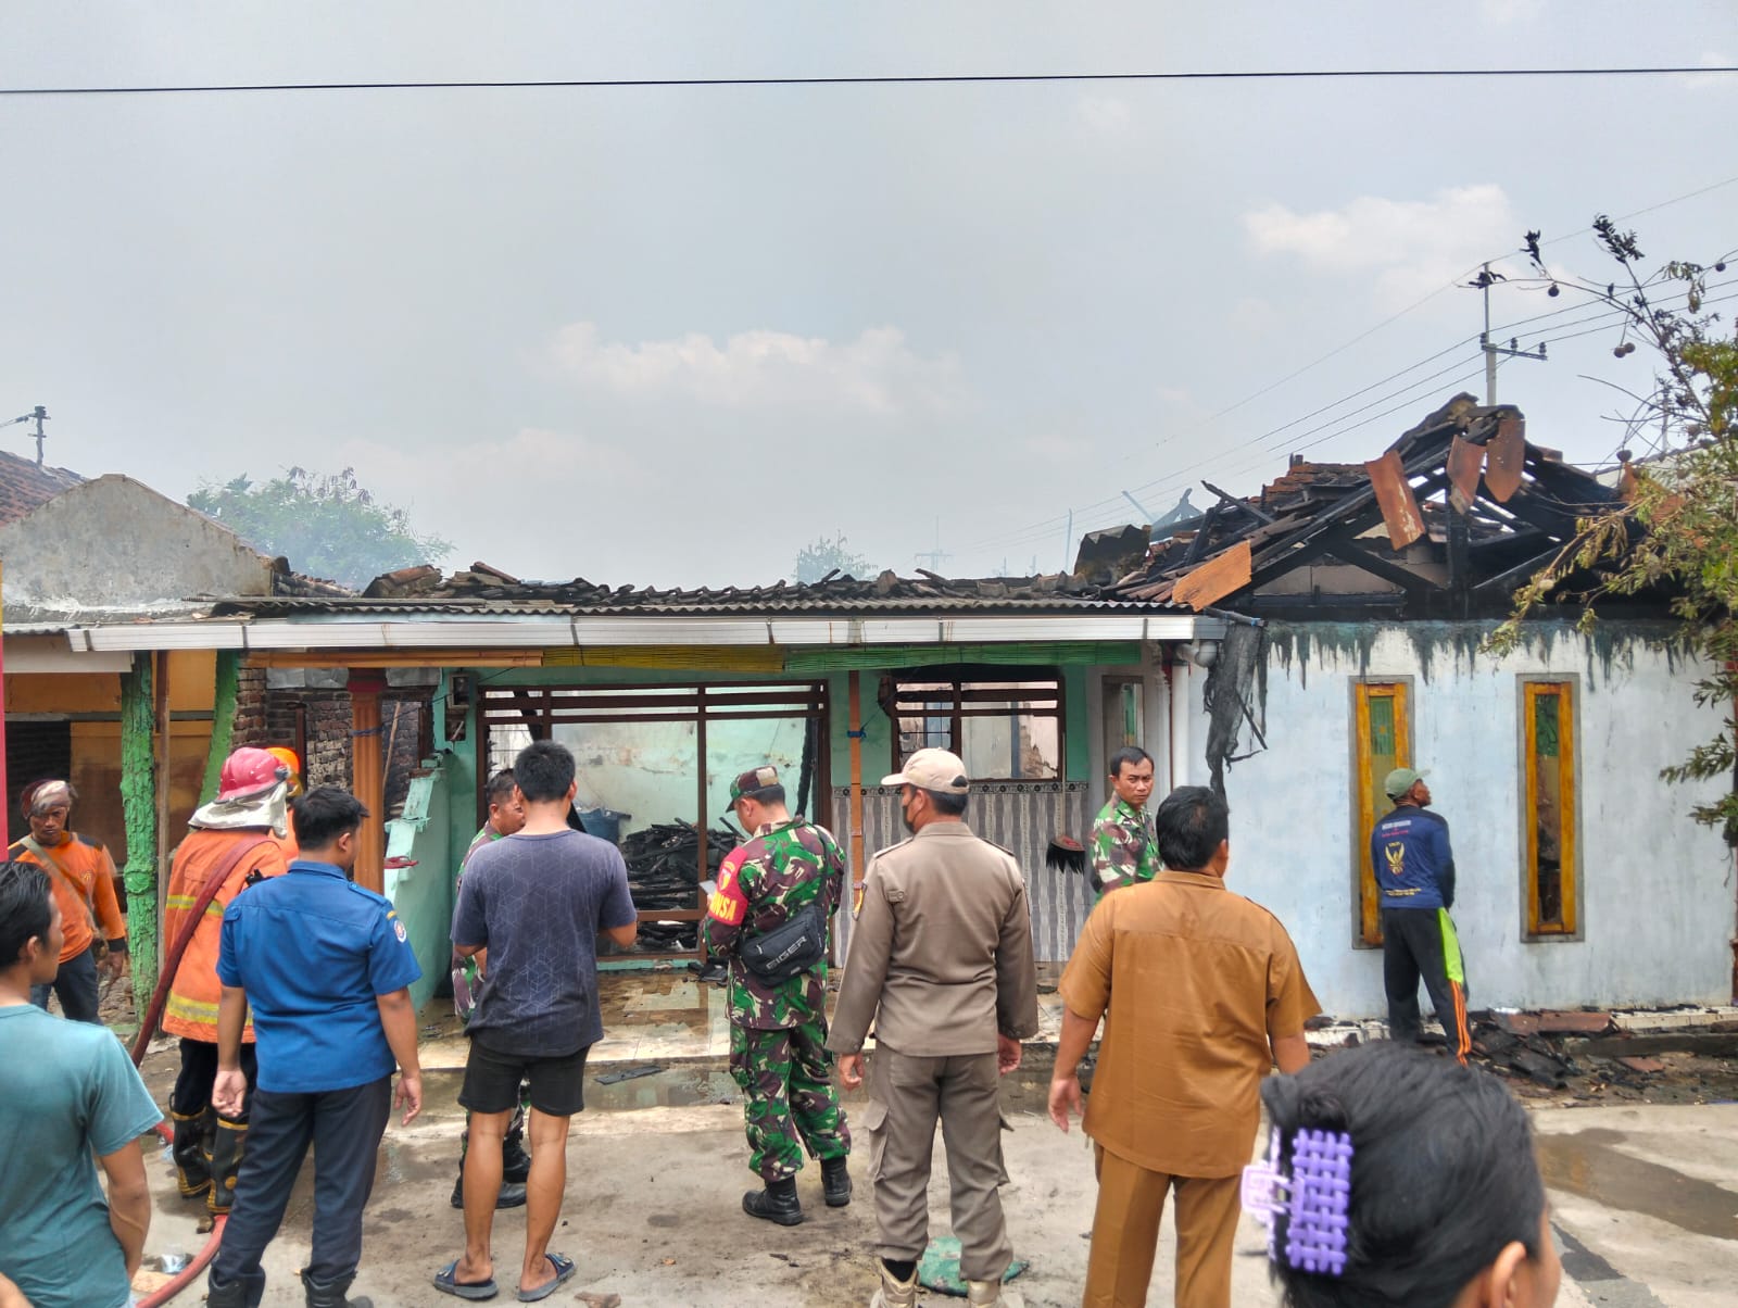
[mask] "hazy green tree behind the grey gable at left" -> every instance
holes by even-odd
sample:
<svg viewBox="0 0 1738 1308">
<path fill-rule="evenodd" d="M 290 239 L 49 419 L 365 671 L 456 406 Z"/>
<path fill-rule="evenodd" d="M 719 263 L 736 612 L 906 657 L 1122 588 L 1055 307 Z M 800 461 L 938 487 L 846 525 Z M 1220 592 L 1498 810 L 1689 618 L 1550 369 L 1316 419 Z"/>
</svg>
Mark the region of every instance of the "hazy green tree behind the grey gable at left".
<svg viewBox="0 0 1738 1308">
<path fill-rule="evenodd" d="M 264 555 L 283 555 L 299 572 L 362 590 L 382 572 L 438 564 L 452 543 L 410 527 L 401 508 L 382 504 L 356 470 L 320 475 L 290 468 L 269 482 L 247 473 L 202 482 L 188 504 L 217 518 Z"/>
</svg>

